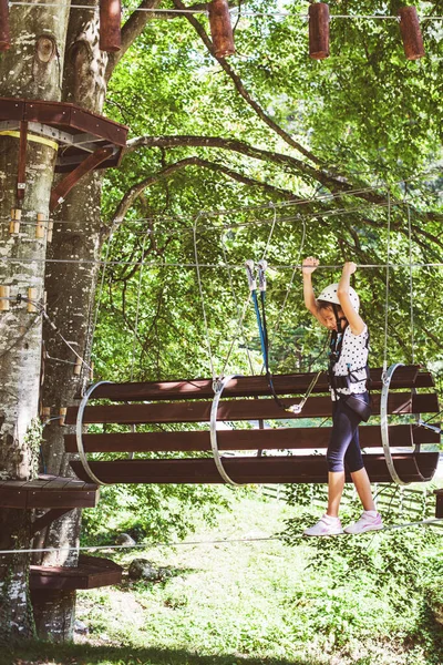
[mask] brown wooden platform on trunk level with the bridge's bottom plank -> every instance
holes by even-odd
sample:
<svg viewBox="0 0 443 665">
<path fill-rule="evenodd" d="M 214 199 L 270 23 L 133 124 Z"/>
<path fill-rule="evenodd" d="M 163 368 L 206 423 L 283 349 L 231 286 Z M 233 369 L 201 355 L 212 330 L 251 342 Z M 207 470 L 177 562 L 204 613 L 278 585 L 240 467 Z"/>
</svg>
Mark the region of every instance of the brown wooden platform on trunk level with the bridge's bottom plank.
<svg viewBox="0 0 443 665">
<path fill-rule="evenodd" d="M 40 475 L 35 480 L 0 481 L 1 508 L 95 508 L 99 488 L 90 480 Z"/>
</svg>

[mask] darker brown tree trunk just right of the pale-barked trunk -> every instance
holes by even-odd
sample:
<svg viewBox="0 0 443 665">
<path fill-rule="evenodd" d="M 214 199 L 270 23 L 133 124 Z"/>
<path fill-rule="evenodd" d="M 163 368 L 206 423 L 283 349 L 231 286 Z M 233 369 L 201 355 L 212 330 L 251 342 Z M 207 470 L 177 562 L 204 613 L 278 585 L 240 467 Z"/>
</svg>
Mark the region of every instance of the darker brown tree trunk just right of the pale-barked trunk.
<svg viewBox="0 0 443 665">
<path fill-rule="evenodd" d="M 95 2 L 89 2 L 92 7 Z M 89 111 L 101 113 L 105 82 L 106 54 L 99 49 L 97 12 L 72 12 L 66 47 L 63 79 L 64 101 L 75 103 Z M 49 257 L 61 263 L 49 263 L 45 285 L 48 314 L 63 337 L 86 362 L 80 375 L 74 374 L 76 356 L 49 327 L 44 330 L 45 362 L 42 386 L 42 405 L 56 418 L 60 409 L 73 403 L 78 393 L 90 378 L 91 331 L 94 321 L 94 296 L 97 262 L 101 250 L 101 191 L 102 172 L 85 176 L 71 191 L 63 205 L 58 208 L 53 242 Z M 85 263 L 79 267 L 63 259 Z M 44 430 L 43 459 L 48 473 L 73 475 L 69 458 L 64 453 L 63 434 L 58 420 Z M 81 511 L 72 511 L 40 533 L 35 548 L 73 548 L 69 552 L 43 553 L 35 557 L 40 565 L 78 564 L 75 548 L 79 542 Z M 51 605 L 35 604 L 35 621 L 39 635 L 51 640 L 72 638 L 74 624 L 75 593 L 59 594 Z M 51 608 L 51 611 L 49 611 Z"/>
</svg>

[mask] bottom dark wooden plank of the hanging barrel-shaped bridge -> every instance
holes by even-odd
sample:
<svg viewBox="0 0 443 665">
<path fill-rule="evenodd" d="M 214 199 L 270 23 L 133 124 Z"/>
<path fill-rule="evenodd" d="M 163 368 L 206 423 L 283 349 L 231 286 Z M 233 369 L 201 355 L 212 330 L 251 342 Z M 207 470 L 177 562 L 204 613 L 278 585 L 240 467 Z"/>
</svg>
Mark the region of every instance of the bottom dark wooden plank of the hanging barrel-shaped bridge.
<svg viewBox="0 0 443 665">
<path fill-rule="evenodd" d="M 420 482 L 419 469 L 430 480 L 435 472 L 439 453 L 396 453 L 393 459 L 404 481 Z M 322 454 L 226 458 L 223 463 L 228 475 L 238 483 L 323 483 L 328 478 Z M 390 482 L 384 456 L 365 454 L 364 464 L 371 482 Z M 71 466 L 80 478 L 87 478 L 81 462 L 71 462 Z M 223 483 L 210 458 L 91 462 L 91 469 L 107 483 Z M 349 474 L 347 482 L 350 482 Z"/>
</svg>

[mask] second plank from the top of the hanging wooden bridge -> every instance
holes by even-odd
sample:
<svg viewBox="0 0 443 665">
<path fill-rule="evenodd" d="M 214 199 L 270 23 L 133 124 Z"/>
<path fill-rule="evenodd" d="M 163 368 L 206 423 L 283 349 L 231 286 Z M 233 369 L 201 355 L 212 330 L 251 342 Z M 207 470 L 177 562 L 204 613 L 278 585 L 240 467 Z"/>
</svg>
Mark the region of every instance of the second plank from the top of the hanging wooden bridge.
<svg viewBox="0 0 443 665">
<path fill-rule="evenodd" d="M 286 400 L 288 406 L 299 403 L 298 398 Z M 380 413 L 380 395 L 372 395 L 373 413 Z M 84 423 L 137 424 L 148 422 L 208 422 L 212 401 L 156 402 L 148 405 L 110 405 L 86 407 Z M 392 392 L 389 397 L 390 413 L 437 412 L 439 400 L 434 393 L 414 395 Z M 220 401 L 218 420 L 278 420 L 293 418 L 327 418 L 331 413 L 331 399 L 328 396 L 311 396 L 302 413 L 289 413 L 274 399 L 234 399 Z M 78 407 L 68 409 L 66 424 L 75 423 Z"/>
</svg>

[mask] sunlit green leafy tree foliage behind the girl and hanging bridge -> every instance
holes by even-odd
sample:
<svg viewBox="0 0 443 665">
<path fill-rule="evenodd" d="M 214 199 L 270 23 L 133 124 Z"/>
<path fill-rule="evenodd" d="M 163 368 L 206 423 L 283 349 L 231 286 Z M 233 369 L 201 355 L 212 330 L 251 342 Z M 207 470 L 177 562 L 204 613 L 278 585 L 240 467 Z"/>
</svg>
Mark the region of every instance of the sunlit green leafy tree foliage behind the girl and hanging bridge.
<svg viewBox="0 0 443 665">
<path fill-rule="evenodd" d="M 359 0 L 330 9 L 368 16 L 395 14 L 399 7 Z M 419 13 L 439 16 L 440 8 L 423 2 Z M 289 16 L 278 17 L 281 9 Z M 326 336 L 302 306 L 293 270 L 302 256 L 317 255 L 337 268 L 321 267 L 316 288 L 336 280 L 347 259 L 365 266 L 353 286 L 371 330 L 373 367 L 414 359 L 442 376 L 441 23 L 422 22 L 427 58 L 409 62 L 396 21 L 337 19 L 331 58 L 318 62 L 307 54 L 306 3 L 253 0 L 240 14 L 230 74 L 198 37 L 196 28 L 208 32 L 208 23 L 196 16 L 151 21 L 111 79 L 106 113 L 130 125 L 130 139 L 178 139 L 128 150 L 121 167 L 106 172 L 102 213 L 115 232 L 104 247 L 97 297 L 99 377 L 259 372 L 243 266 L 265 255 L 274 269 L 267 293 L 274 372 L 324 366 Z M 238 145 L 205 146 L 195 136 Z M 200 162 L 162 175 L 190 157 Z M 122 197 L 148 176 L 117 223 Z M 343 182 L 358 192 L 344 195 Z M 197 488 L 111 489 L 104 497 L 103 519 L 122 501 L 124 514 L 133 514 L 122 528 L 155 538 L 167 523 L 182 531 L 193 497 L 218 501 L 216 491 Z M 101 519 L 101 512 L 86 518 L 91 534 L 100 533 Z"/>
</svg>

